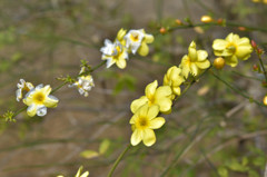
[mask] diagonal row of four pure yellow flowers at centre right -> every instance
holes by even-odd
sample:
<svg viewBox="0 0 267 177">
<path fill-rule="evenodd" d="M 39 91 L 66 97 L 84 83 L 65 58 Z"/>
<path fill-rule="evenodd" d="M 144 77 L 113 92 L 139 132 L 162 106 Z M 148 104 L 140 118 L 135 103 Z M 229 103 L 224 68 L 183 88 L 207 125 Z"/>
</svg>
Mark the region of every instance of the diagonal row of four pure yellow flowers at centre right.
<svg viewBox="0 0 267 177">
<path fill-rule="evenodd" d="M 146 146 L 156 142 L 154 129 L 164 126 L 165 118 L 157 117 L 159 114 L 170 114 L 172 101 L 180 96 L 180 85 L 185 82 L 189 73 L 192 77 L 199 76 L 205 69 L 210 67 L 207 59 L 208 52 L 197 50 L 192 41 L 188 48 L 188 55 L 184 56 L 179 67 L 174 66 L 168 69 L 164 77 L 164 86 L 158 87 L 158 81 L 146 87 L 145 96 L 131 102 L 130 109 L 134 116 L 130 119 L 132 128 L 131 145 L 136 146 L 144 141 Z"/>
</svg>

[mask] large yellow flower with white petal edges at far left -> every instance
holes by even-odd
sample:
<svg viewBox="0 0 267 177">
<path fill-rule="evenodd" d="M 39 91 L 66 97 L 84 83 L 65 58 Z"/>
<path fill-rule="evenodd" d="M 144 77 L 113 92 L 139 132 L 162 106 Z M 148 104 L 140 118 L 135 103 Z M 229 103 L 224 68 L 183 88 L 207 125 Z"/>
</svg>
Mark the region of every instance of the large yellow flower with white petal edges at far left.
<svg viewBox="0 0 267 177">
<path fill-rule="evenodd" d="M 32 117 L 47 115 L 47 108 L 55 108 L 58 105 L 58 98 L 49 95 L 51 87 L 47 85 L 38 85 L 34 89 L 31 89 L 23 99 L 23 102 L 28 106 L 27 114 Z"/>
</svg>

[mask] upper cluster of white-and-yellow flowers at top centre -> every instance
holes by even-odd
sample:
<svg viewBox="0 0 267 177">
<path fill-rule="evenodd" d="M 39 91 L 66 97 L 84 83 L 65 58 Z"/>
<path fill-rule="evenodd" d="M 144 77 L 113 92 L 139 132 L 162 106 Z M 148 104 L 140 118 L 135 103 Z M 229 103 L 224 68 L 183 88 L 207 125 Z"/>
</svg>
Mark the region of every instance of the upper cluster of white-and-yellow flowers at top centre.
<svg viewBox="0 0 267 177">
<path fill-rule="evenodd" d="M 127 30 L 120 29 L 113 42 L 109 39 L 105 40 L 105 47 L 100 49 L 102 60 L 107 60 L 107 68 L 113 63 L 120 69 L 126 68 L 126 60 L 129 59 L 129 53 L 147 56 L 149 48 L 147 43 L 154 41 L 154 36 L 146 33 L 144 29 Z"/>
</svg>

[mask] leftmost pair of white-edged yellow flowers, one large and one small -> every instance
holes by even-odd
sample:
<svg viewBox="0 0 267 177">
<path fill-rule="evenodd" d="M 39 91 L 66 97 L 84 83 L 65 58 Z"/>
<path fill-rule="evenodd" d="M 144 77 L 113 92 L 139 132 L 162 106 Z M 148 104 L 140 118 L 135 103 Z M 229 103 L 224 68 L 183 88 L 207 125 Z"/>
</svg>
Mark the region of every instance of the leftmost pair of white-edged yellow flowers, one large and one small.
<svg viewBox="0 0 267 177">
<path fill-rule="evenodd" d="M 18 89 L 16 91 L 17 100 L 20 101 L 23 97 L 23 92 L 27 92 L 23 98 L 23 102 L 28 106 L 27 114 L 30 117 L 47 115 L 47 108 L 55 108 L 58 105 L 58 98 L 50 95 L 51 87 L 49 85 L 38 85 L 33 87 L 31 82 L 26 82 L 20 79 Z"/>
</svg>

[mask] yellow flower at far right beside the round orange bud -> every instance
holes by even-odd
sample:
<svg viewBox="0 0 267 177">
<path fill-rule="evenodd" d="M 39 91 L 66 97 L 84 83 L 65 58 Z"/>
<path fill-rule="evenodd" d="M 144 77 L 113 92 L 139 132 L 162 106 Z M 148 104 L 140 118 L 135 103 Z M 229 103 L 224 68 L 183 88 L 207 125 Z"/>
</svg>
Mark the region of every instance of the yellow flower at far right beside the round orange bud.
<svg viewBox="0 0 267 177">
<path fill-rule="evenodd" d="M 239 38 L 238 35 L 229 33 L 226 39 L 216 39 L 212 45 L 215 56 L 224 57 L 226 65 L 236 67 L 238 59 L 247 60 L 253 52 L 248 38 Z"/>
</svg>

